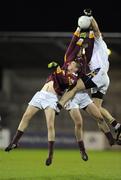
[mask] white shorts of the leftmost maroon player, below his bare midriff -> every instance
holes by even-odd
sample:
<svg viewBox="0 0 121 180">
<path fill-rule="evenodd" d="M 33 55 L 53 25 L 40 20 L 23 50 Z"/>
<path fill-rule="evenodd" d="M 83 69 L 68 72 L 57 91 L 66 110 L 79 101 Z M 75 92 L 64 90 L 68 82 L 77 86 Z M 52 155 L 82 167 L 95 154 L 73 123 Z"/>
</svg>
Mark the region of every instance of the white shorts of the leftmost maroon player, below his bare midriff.
<svg viewBox="0 0 121 180">
<path fill-rule="evenodd" d="M 57 101 L 58 98 L 55 94 L 42 90 L 38 91 L 28 104 L 39 109 L 50 107 L 56 110 Z"/>
</svg>

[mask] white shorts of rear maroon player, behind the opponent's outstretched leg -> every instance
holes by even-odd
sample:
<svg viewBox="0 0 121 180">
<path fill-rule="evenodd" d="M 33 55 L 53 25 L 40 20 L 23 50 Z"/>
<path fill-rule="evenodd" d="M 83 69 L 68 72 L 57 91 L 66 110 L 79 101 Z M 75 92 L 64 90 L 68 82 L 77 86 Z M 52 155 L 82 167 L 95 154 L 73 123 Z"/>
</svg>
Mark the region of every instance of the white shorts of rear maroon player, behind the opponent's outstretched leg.
<svg viewBox="0 0 121 180">
<path fill-rule="evenodd" d="M 93 101 L 89 97 L 88 93 L 86 91 L 81 91 L 81 92 L 76 93 L 74 98 L 72 100 L 69 100 L 65 104 L 65 109 L 66 110 L 71 110 L 73 108 L 83 109 L 89 104 L 91 104 L 92 102 Z"/>
</svg>

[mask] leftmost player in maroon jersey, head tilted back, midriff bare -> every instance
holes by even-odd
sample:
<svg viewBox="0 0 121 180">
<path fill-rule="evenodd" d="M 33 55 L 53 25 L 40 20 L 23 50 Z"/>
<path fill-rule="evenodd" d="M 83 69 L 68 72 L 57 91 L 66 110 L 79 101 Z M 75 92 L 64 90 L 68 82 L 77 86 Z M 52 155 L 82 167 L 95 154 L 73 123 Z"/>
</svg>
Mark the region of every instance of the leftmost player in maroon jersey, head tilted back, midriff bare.
<svg viewBox="0 0 121 180">
<path fill-rule="evenodd" d="M 80 30 L 77 29 L 74 37 L 75 39 L 79 38 L 79 32 Z M 15 136 L 5 151 L 10 151 L 14 148 L 17 148 L 18 142 L 28 127 L 30 120 L 40 109 L 43 109 L 45 112 L 48 129 L 49 154 L 48 158 L 46 159 L 46 165 L 50 165 L 52 163 L 55 141 L 54 120 L 56 103 L 58 101 L 57 96 L 62 95 L 66 89 L 76 84 L 76 73 L 80 69 L 80 65 L 75 61 L 75 57 L 78 53 L 78 50 L 80 49 L 80 46 L 82 45 L 82 42 L 83 39 L 80 39 L 78 42 L 79 48 L 75 50 L 75 53 L 71 55 L 71 57 L 68 53 L 66 54 L 63 66 L 58 66 L 57 69 L 48 77 L 47 82 L 43 88 L 33 96 L 21 119 Z"/>
</svg>

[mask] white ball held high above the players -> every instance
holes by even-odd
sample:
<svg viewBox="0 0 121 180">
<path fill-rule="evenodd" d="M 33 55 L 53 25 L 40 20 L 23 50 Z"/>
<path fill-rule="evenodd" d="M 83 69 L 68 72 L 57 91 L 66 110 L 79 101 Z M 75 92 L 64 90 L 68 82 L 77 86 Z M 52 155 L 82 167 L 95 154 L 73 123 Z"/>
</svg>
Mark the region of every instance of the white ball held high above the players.
<svg viewBox="0 0 121 180">
<path fill-rule="evenodd" d="M 88 29 L 90 24 L 91 24 L 90 17 L 88 17 L 88 16 L 81 16 L 81 17 L 79 17 L 79 19 L 78 19 L 78 26 L 81 29 Z"/>
</svg>

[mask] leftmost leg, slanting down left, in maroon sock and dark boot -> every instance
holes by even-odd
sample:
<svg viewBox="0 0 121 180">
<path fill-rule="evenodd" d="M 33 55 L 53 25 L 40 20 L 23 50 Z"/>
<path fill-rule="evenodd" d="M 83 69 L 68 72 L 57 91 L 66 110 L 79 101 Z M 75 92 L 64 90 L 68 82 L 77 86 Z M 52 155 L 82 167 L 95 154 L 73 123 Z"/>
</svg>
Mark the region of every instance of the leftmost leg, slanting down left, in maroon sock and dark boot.
<svg viewBox="0 0 121 180">
<path fill-rule="evenodd" d="M 18 129 L 16 131 L 15 136 L 13 137 L 11 143 L 9 144 L 9 146 L 5 149 L 5 151 L 10 151 L 14 148 L 17 147 L 17 144 L 21 138 L 21 136 L 23 135 L 24 131 L 26 130 L 26 128 L 29 125 L 30 120 L 32 119 L 32 117 L 39 111 L 38 108 L 34 107 L 34 106 L 28 106 L 25 113 L 23 114 L 23 117 L 21 119 L 21 122 L 18 126 Z"/>
</svg>

